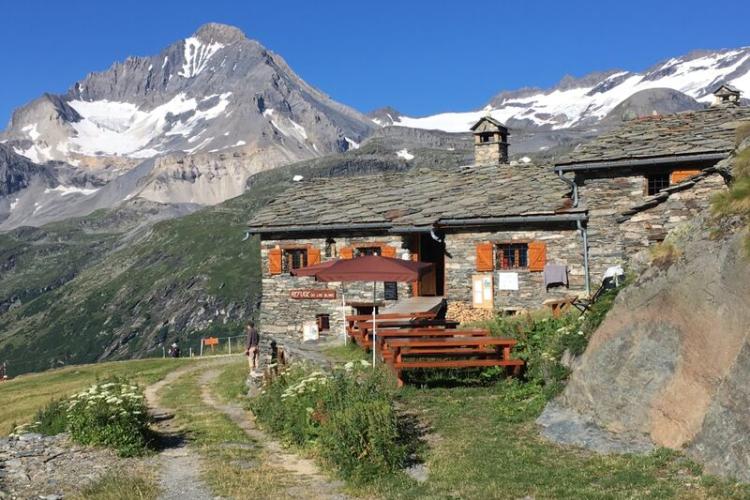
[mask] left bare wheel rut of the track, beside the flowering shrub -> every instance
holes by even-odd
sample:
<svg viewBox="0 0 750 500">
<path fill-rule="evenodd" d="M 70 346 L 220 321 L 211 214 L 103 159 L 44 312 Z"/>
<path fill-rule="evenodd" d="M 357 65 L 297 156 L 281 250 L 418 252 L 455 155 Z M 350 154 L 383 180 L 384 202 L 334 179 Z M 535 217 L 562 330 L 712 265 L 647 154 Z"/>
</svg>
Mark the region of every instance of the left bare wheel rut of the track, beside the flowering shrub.
<svg viewBox="0 0 750 500">
<path fill-rule="evenodd" d="M 205 365 L 201 363 L 200 366 Z M 200 479 L 200 457 L 181 438 L 182 429 L 172 420 L 173 410 L 161 406 L 159 400 L 159 391 L 182 375 L 197 369 L 197 365 L 190 364 L 170 372 L 144 391 L 149 411 L 156 421 L 155 430 L 163 436 L 164 441 L 162 451 L 154 458 L 156 467 L 161 471 L 160 498 L 164 500 L 210 500 L 215 497 Z"/>
</svg>

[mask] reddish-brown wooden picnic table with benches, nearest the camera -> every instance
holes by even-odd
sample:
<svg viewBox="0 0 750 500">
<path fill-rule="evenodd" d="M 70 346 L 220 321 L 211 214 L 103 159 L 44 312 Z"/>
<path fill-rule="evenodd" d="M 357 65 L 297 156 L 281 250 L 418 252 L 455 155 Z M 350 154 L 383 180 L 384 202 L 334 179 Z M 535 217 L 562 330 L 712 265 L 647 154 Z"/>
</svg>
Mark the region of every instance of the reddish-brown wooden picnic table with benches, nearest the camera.
<svg viewBox="0 0 750 500">
<path fill-rule="evenodd" d="M 447 337 L 432 339 L 393 339 L 388 341 L 390 356 L 386 362 L 393 369 L 399 387 L 404 382 L 403 370 L 414 368 L 481 368 L 506 366 L 514 374 L 520 372 L 523 360 L 512 359 L 510 351 L 516 345 L 514 339 L 497 337 Z M 443 359 L 405 360 L 410 357 Z M 444 359 L 455 358 L 455 359 Z"/>
</svg>

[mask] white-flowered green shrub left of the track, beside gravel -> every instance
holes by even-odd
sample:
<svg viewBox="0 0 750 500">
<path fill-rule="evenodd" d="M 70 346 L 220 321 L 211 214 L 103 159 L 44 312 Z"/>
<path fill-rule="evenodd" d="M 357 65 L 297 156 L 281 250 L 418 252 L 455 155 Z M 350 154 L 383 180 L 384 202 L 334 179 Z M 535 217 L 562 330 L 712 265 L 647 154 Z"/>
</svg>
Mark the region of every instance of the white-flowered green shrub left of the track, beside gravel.
<svg viewBox="0 0 750 500">
<path fill-rule="evenodd" d="M 143 394 L 120 379 L 74 394 L 67 421 L 74 441 L 114 448 L 124 457 L 143 454 L 151 441 Z"/>
</svg>

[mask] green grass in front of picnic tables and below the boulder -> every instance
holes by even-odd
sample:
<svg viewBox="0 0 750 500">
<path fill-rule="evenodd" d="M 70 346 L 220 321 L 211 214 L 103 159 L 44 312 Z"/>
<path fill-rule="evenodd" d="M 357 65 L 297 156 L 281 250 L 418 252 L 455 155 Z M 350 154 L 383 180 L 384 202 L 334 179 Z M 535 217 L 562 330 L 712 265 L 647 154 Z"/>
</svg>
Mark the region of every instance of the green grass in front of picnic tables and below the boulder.
<svg viewBox="0 0 750 500">
<path fill-rule="evenodd" d="M 358 494 L 385 498 L 750 498 L 750 485 L 700 474 L 676 452 L 603 456 L 543 440 L 534 420 L 546 398 L 514 381 L 420 390 L 399 397 L 431 431 L 429 480 L 381 478 Z"/>
</svg>

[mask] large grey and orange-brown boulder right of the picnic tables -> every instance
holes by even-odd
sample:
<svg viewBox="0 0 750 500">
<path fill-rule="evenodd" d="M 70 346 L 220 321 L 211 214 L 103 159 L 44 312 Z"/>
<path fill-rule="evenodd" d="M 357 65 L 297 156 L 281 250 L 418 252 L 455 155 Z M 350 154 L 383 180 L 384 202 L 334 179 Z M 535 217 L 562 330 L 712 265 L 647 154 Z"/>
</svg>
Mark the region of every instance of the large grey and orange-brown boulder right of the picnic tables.
<svg viewBox="0 0 750 500">
<path fill-rule="evenodd" d="M 618 297 L 539 418 L 543 434 L 600 452 L 685 450 L 750 481 L 750 262 L 737 230 L 686 231 L 682 255 Z"/>
</svg>

